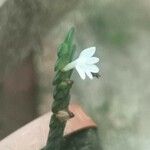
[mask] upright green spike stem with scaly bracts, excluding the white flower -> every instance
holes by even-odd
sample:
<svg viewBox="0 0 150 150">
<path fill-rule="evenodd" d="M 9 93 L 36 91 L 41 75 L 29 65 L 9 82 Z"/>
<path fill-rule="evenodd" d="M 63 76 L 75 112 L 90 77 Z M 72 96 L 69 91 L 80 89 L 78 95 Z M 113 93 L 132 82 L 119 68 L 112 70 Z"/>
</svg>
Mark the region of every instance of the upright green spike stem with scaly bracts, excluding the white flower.
<svg viewBox="0 0 150 150">
<path fill-rule="evenodd" d="M 62 69 L 72 61 L 75 46 L 73 45 L 74 28 L 72 28 L 65 39 L 65 41 L 58 48 L 58 59 L 55 66 L 56 75 L 54 77 L 53 85 L 53 115 L 50 121 L 50 131 L 48 135 L 47 145 L 45 150 L 60 150 L 63 145 L 63 133 L 66 126 L 67 119 L 71 117 L 68 106 L 70 102 L 70 88 L 72 81 L 70 77 L 72 71 L 63 72 Z"/>
</svg>

